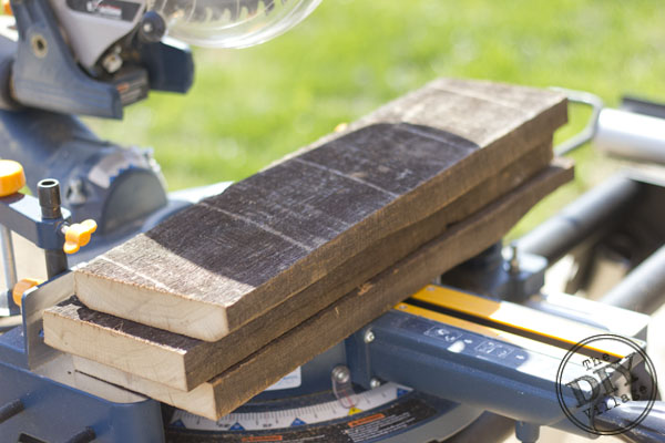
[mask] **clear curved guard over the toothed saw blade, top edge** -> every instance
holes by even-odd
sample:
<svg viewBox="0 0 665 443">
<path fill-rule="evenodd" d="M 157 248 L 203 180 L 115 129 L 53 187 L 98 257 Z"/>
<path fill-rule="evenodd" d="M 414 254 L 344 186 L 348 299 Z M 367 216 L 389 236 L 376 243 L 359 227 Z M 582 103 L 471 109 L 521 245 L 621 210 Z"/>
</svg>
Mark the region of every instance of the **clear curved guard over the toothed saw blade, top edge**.
<svg viewBox="0 0 665 443">
<path fill-rule="evenodd" d="M 321 0 L 152 0 L 149 11 L 166 22 L 168 35 L 207 48 L 247 48 L 283 34 Z"/>
</svg>

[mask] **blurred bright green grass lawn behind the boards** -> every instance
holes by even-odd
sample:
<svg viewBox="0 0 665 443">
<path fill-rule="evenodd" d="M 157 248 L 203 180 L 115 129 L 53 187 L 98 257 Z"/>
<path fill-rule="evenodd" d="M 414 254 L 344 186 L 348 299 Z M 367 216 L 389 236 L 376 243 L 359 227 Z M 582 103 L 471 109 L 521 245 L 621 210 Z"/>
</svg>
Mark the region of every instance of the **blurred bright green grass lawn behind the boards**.
<svg viewBox="0 0 665 443">
<path fill-rule="evenodd" d="M 108 138 L 152 146 L 171 189 L 241 179 L 340 122 L 438 76 L 563 86 L 616 105 L 665 101 L 662 0 L 324 0 L 289 33 L 245 50 L 195 50 L 190 94 L 153 93 L 123 122 L 89 121 Z M 571 110 L 570 136 L 587 112 Z M 528 229 L 608 174 L 590 146 L 577 178 L 543 202 Z"/>
</svg>

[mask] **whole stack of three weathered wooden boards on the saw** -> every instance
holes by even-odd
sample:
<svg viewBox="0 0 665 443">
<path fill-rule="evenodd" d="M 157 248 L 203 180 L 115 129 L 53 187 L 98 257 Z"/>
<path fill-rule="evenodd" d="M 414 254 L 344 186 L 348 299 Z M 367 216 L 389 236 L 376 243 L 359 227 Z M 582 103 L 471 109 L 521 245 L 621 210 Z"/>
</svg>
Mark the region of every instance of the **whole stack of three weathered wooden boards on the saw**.
<svg viewBox="0 0 665 443">
<path fill-rule="evenodd" d="M 498 241 L 572 177 L 556 93 L 439 80 L 75 270 L 79 370 L 216 419 Z"/>
</svg>

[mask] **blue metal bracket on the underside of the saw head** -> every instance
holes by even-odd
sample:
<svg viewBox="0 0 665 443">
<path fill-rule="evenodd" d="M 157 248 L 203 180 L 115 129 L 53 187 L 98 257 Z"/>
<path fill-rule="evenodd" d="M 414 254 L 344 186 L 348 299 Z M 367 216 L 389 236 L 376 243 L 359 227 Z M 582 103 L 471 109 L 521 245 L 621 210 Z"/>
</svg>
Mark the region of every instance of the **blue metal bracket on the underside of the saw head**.
<svg viewBox="0 0 665 443">
<path fill-rule="evenodd" d="M 12 84 L 20 104 L 63 114 L 122 119 L 123 106 L 143 100 L 149 90 L 185 93 L 194 80 L 188 48 L 166 40 L 129 40 L 139 60 L 102 80 L 74 61 L 48 1 L 11 0 L 19 41 Z"/>
</svg>

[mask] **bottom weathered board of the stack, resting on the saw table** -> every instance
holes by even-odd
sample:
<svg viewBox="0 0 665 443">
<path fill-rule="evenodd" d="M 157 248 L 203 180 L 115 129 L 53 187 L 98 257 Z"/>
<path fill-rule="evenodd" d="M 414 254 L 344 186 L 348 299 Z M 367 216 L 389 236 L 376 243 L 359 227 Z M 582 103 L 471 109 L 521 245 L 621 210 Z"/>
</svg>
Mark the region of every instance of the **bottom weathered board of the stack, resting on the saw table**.
<svg viewBox="0 0 665 443">
<path fill-rule="evenodd" d="M 190 392 L 75 358 L 89 375 L 125 387 L 197 415 L 218 420 L 388 311 L 433 278 L 499 241 L 541 198 L 572 179 L 572 166 L 551 167 L 448 229 L 407 258 L 296 328 Z"/>
</svg>

